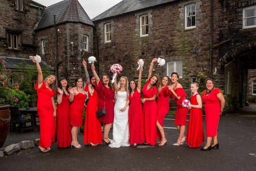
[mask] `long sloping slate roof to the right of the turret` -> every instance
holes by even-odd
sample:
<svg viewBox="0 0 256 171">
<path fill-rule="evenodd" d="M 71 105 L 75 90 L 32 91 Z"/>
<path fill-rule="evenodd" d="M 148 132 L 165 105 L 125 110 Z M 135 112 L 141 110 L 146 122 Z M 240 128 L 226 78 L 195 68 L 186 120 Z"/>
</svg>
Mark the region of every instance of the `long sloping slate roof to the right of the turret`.
<svg viewBox="0 0 256 171">
<path fill-rule="evenodd" d="M 137 10 L 152 8 L 154 6 L 159 6 L 174 1 L 179 0 L 122 0 L 112 8 L 102 12 L 100 15 L 93 18 L 92 21 L 106 19 Z"/>
</svg>

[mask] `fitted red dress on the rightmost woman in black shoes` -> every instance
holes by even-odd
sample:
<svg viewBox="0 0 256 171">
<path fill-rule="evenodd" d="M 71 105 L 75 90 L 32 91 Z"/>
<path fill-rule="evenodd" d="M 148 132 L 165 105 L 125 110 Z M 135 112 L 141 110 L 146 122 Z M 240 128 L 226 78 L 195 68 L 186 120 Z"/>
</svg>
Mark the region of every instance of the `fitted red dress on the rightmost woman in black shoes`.
<svg viewBox="0 0 256 171">
<path fill-rule="evenodd" d="M 215 137 L 220 120 L 220 101 L 217 94 L 221 93 L 220 89 L 214 88 L 213 91 L 206 95 L 203 93 L 203 103 L 205 103 L 205 126 L 206 136 Z"/>
</svg>

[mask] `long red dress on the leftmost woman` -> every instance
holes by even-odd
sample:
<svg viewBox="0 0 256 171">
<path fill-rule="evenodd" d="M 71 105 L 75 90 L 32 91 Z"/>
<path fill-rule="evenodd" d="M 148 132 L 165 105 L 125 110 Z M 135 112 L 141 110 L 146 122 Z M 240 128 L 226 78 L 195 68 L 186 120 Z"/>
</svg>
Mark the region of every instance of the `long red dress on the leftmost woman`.
<svg viewBox="0 0 256 171">
<path fill-rule="evenodd" d="M 40 122 L 40 141 L 39 146 L 48 148 L 51 146 L 52 126 L 53 126 L 53 113 L 54 108 L 51 102 L 51 97 L 55 95 L 53 90 L 46 87 L 46 83 L 40 88 L 37 88 L 38 82 L 36 81 L 35 90 L 37 91 L 37 113 Z"/>
</svg>

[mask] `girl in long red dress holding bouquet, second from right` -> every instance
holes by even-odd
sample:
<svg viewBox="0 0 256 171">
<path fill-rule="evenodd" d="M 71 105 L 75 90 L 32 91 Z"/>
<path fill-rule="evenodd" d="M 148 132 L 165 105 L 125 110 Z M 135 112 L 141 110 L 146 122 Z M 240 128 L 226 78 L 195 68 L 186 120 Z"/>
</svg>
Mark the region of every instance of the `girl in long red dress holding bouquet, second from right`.
<svg viewBox="0 0 256 171">
<path fill-rule="evenodd" d="M 200 147 L 201 142 L 205 142 L 204 130 L 203 130 L 203 114 L 202 114 L 202 99 L 201 95 L 197 93 L 198 83 L 194 82 L 190 85 L 192 92 L 189 107 L 190 115 L 187 127 L 186 142 L 189 147 Z"/>
</svg>

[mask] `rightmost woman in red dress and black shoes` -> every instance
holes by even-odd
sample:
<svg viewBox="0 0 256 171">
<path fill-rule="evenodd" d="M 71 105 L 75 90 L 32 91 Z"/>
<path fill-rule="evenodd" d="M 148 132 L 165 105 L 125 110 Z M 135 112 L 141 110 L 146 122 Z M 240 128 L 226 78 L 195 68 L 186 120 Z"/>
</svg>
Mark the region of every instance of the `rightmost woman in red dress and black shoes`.
<svg viewBox="0 0 256 171">
<path fill-rule="evenodd" d="M 220 89 L 214 88 L 214 81 L 212 78 L 206 80 L 207 90 L 203 93 L 203 103 L 205 103 L 205 126 L 206 126 L 206 144 L 202 151 L 211 150 L 212 148 L 219 148 L 217 139 L 217 129 L 220 115 L 225 106 L 225 98 Z M 213 140 L 213 144 L 211 142 Z"/>
</svg>

